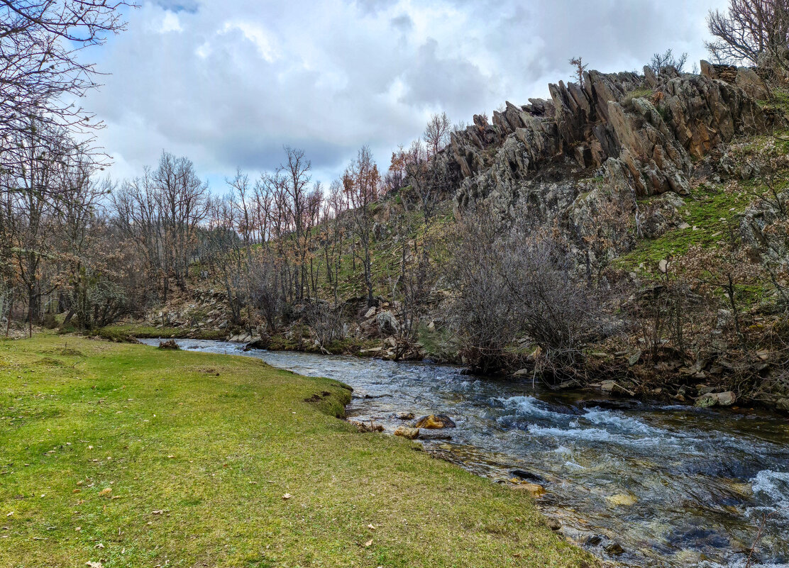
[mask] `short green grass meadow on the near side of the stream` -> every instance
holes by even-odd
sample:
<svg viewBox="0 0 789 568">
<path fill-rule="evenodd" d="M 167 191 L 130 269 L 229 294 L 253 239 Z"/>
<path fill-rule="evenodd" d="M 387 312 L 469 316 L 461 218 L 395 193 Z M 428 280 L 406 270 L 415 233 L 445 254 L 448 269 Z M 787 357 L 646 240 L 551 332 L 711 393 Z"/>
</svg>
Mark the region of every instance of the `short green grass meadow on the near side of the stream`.
<svg viewBox="0 0 789 568">
<path fill-rule="evenodd" d="M 329 379 L 46 334 L 0 342 L 0 384 L 0 566 L 595 564 L 525 493 L 338 420 Z"/>
</svg>

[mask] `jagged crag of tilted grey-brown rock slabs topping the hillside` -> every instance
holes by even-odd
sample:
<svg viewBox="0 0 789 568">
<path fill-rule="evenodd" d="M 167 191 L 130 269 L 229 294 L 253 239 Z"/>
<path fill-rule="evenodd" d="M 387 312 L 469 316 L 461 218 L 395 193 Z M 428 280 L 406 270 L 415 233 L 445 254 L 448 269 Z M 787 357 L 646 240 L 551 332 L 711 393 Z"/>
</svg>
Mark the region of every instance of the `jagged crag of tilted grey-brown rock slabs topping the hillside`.
<svg viewBox="0 0 789 568">
<path fill-rule="evenodd" d="M 492 124 L 475 115 L 446 150 L 462 180 L 456 207 L 486 200 L 503 217 L 524 204 L 544 220 L 567 217 L 581 194 L 588 201 L 595 187 L 583 180 L 595 175 L 623 197 L 686 194 L 694 161 L 771 120 L 754 99 L 767 90 L 752 70 L 702 69 L 589 71 L 582 86 L 551 84 L 551 100 L 508 102 Z"/>
</svg>

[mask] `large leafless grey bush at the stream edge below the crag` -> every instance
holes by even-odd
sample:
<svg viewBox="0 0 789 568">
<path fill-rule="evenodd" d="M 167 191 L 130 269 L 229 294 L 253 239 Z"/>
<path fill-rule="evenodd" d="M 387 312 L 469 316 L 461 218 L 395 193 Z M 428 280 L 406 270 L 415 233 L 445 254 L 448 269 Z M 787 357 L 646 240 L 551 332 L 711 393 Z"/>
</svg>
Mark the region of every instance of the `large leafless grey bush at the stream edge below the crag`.
<svg viewBox="0 0 789 568">
<path fill-rule="evenodd" d="M 506 367 L 511 346 L 539 346 L 540 368 L 561 379 L 583 373 L 585 348 L 618 329 L 611 291 L 582 278 L 567 247 L 528 223 L 496 227 L 487 211 L 458 223 L 449 276 L 457 290 L 451 320 L 467 364 Z"/>
</svg>

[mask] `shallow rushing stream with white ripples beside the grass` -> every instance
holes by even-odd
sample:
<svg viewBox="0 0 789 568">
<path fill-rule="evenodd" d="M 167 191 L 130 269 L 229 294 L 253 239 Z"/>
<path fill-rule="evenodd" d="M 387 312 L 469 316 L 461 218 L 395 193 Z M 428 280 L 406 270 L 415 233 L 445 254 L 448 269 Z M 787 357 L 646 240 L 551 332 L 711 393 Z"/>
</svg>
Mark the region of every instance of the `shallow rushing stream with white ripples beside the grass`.
<svg viewBox="0 0 789 568">
<path fill-rule="evenodd" d="M 158 340 L 148 343 L 157 344 Z M 183 349 L 263 359 L 353 387 L 348 416 L 387 432 L 395 413 L 445 413 L 450 440 L 425 441 L 473 473 L 518 476 L 548 493 L 540 510 L 615 566 L 789 568 L 789 420 L 533 391 L 530 383 L 464 376 L 459 368 L 308 353 L 241 351 L 178 340 Z M 619 544 L 619 552 L 614 544 Z M 619 552 L 619 554 L 615 554 Z"/>
</svg>

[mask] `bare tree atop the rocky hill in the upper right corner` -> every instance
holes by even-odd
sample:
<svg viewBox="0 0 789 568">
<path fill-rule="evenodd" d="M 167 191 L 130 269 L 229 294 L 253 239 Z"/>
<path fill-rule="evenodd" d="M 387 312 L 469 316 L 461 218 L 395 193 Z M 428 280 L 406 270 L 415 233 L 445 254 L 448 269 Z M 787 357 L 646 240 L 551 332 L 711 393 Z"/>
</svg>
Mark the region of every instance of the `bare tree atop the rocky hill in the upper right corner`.
<svg viewBox="0 0 789 568">
<path fill-rule="evenodd" d="M 705 46 L 716 62 L 759 65 L 767 55 L 787 71 L 787 0 L 729 0 L 726 12 L 709 12 L 707 27 L 716 39 Z"/>
</svg>

